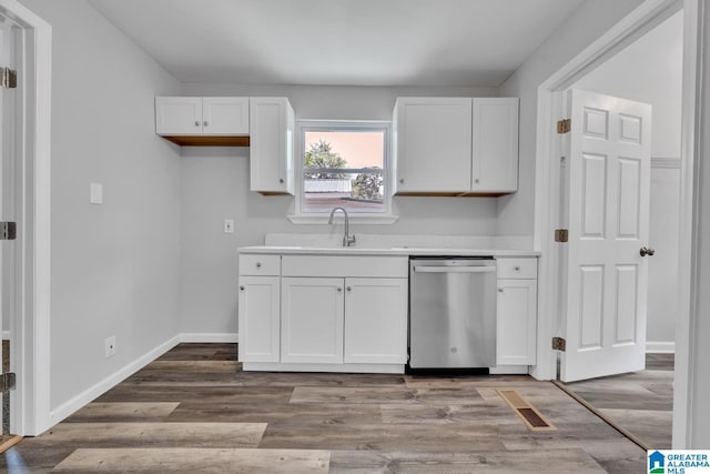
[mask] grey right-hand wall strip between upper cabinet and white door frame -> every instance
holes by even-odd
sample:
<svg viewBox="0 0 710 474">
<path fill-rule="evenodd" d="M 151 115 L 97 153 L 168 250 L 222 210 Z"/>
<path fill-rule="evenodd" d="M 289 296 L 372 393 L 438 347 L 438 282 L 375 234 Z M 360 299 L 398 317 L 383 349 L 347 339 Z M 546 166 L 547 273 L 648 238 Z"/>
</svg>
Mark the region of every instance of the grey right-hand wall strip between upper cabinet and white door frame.
<svg viewBox="0 0 710 474">
<path fill-rule="evenodd" d="M 538 87 L 641 2 L 586 0 L 498 89 L 499 95 L 520 98 L 519 185 L 498 199 L 498 234 L 534 231 Z"/>
</svg>

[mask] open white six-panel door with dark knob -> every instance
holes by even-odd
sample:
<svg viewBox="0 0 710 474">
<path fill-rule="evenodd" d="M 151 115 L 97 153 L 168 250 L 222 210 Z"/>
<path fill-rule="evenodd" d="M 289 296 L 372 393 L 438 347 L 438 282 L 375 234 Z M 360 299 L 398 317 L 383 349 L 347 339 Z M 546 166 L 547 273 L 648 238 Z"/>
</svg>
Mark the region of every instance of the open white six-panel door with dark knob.
<svg viewBox="0 0 710 474">
<path fill-rule="evenodd" d="M 645 367 L 651 144 L 648 104 L 580 90 L 568 104 L 566 382 Z"/>
</svg>

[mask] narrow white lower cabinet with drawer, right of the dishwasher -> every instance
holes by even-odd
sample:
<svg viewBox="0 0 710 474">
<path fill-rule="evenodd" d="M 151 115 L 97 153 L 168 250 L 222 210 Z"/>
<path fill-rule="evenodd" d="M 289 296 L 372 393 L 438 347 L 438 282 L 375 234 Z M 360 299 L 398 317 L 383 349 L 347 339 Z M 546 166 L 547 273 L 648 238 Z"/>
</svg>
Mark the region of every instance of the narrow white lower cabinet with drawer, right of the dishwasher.
<svg viewBox="0 0 710 474">
<path fill-rule="evenodd" d="M 534 365 L 537 352 L 537 259 L 498 259 L 497 365 Z"/>
</svg>

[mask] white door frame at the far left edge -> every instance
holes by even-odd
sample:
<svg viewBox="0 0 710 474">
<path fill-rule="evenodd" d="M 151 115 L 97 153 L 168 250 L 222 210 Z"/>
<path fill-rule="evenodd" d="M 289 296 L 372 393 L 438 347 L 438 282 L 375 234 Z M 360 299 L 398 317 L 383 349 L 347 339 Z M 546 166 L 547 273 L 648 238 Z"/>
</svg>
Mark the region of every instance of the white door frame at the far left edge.
<svg viewBox="0 0 710 474">
<path fill-rule="evenodd" d="M 18 56 L 17 311 L 12 315 L 10 426 L 38 435 L 50 417 L 50 148 L 52 29 L 17 0 L 0 0 L 0 14 L 20 26 Z"/>
</svg>

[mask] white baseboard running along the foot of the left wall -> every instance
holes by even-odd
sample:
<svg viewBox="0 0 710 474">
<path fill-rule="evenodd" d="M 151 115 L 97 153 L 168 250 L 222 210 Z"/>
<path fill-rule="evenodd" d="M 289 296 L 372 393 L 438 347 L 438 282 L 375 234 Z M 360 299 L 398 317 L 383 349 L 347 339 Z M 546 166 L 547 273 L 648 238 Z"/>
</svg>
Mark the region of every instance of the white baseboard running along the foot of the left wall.
<svg viewBox="0 0 710 474">
<path fill-rule="evenodd" d="M 81 392 L 73 399 L 69 400 L 68 402 L 61 404 L 55 410 L 52 410 L 50 412 L 51 424 L 54 425 L 61 422 L 67 416 L 71 415 L 79 409 L 83 407 L 85 404 L 88 404 L 95 397 L 113 389 L 120 382 L 133 375 L 135 372 L 140 371 L 145 365 L 150 364 L 155 359 L 160 357 L 161 355 L 163 355 L 164 353 L 166 353 L 168 351 L 170 351 L 171 349 L 180 344 L 180 342 L 181 342 L 181 334 L 165 341 L 158 347 L 153 349 L 152 351 L 148 352 L 146 354 L 142 355 L 141 357 L 125 365 L 123 369 L 120 369 L 119 371 L 109 375 L 101 382 Z"/>
</svg>

